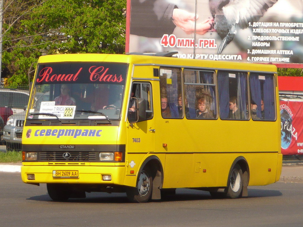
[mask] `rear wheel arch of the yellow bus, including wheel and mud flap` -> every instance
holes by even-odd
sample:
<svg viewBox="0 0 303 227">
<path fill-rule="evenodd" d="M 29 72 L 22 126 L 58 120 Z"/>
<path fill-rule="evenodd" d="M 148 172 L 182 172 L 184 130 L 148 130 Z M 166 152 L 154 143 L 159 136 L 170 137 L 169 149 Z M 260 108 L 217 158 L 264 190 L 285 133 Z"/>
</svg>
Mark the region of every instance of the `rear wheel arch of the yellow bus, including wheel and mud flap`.
<svg viewBox="0 0 303 227">
<path fill-rule="evenodd" d="M 248 196 L 249 166 L 243 156 L 237 157 L 231 165 L 228 174 L 225 193 L 228 198 L 240 198 Z"/>
</svg>

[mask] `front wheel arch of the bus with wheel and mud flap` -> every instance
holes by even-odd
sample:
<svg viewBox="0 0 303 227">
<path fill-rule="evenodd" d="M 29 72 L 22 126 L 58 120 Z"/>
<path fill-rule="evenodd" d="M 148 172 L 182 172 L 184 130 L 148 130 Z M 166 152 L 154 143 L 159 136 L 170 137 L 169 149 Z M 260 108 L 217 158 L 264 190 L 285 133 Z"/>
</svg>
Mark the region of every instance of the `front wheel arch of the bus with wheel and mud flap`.
<svg viewBox="0 0 303 227">
<path fill-rule="evenodd" d="M 149 156 L 138 172 L 136 187 L 128 187 L 126 195 L 131 202 L 161 199 L 163 167 L 157 156 Z"/>
</svg>

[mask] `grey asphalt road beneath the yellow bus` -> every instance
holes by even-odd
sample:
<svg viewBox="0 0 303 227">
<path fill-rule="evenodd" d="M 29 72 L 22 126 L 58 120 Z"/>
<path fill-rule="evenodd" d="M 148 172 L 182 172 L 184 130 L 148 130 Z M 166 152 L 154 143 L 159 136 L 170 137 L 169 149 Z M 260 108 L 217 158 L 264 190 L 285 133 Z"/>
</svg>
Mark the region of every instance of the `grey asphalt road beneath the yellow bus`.
<svg viewBox="0 0 303 227">
<path fill-rule="evenodd" d="M 87 193 L 53 202 L 46 185 L 0 173 L 0 226 L 303 226 L 303 183 L 249 187 L 249 198 L 212 199 L 208 192 L 177 189 L 161 202 L 129 203 L 124 193 Z"/>
</svg>

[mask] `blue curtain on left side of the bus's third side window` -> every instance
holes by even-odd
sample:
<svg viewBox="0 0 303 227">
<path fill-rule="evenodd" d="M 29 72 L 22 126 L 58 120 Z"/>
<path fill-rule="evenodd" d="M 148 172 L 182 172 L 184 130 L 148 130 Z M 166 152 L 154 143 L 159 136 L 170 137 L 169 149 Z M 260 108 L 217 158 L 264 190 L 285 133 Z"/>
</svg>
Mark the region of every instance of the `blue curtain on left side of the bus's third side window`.
<svg viewBox="0 0 303 227">
<path fill-rule="evenodd" d="M 228 114 L 229 114 L 228 72 L 218 72 L 218 89 L 219 89 L 220 117 L 228 118 Z"/>
</svg>

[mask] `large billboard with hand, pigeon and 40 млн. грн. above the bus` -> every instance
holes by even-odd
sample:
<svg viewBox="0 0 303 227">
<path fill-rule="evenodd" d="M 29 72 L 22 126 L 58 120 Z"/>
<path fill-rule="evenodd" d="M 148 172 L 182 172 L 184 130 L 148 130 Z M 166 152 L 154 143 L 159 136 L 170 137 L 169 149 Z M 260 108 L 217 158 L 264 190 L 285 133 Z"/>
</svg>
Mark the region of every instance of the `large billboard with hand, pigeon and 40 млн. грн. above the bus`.
<svg viewBox="0 0 303 227">
<path fill-rule="evenodd" d="M 303 0 L 128 0 L 126 53 L 301 63 Z"/>
</svg>

